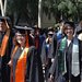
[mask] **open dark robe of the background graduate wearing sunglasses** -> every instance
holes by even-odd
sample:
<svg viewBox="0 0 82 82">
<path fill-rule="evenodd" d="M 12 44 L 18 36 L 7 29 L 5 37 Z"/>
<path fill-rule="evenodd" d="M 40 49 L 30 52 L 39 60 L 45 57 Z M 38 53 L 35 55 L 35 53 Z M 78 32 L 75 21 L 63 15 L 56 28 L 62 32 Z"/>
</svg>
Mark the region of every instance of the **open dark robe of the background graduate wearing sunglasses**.
<svg viewBox="0 0 82 82">
<path fill-rule="evenodd" d="M 43 69 L 43 72 L 45 71 L 45 73 L 44 73 L 45 80 L 48 80 L 48 74 L 49 74 L 48 71 L 51 66 L 51 58 L 49 56 L 50 47 L 51 47 L 51 44 L 49 44 L 48 40 L 44 40 L 40 58 L 42 58 L 42 65 L 45 65 L 45 69 Z"/>
</svg>

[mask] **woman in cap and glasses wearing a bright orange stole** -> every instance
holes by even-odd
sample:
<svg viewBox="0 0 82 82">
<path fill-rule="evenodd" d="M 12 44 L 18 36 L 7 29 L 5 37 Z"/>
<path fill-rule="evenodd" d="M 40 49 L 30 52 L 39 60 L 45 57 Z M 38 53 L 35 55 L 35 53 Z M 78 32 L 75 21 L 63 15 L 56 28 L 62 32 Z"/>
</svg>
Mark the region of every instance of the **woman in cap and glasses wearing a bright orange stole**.
<svg viewBox="0 0 82 82">
<path fill-rule="evenodd" d="M 10 82 L 43 82 L 37 51 L 30 42 L 31 27 L 15 26 L 15 44 L 12 49 Z"/>
</svg>

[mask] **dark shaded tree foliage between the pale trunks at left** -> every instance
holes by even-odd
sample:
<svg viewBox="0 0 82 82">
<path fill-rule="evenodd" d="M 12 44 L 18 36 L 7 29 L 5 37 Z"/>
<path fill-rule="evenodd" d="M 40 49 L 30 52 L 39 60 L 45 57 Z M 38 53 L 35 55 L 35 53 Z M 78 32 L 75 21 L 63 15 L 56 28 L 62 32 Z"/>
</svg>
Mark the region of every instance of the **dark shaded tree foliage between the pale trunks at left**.
<svg viewBox="0 0 82 82">
<path fill-rule="evenodd" d="M 26 20 L 30 25 L 37 21 L 38 0 L 8 0 L 8 14 L 15 17 L 15 24 L 20 19 Z"/>
</svg>

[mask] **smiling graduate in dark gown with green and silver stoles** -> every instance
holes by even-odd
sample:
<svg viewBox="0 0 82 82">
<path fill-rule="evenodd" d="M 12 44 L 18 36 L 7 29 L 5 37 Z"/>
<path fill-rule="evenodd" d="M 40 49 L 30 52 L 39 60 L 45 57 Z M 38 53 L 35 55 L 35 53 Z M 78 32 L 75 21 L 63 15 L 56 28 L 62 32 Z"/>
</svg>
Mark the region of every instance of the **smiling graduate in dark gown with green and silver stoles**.
<svg viewBox="0 0 82 82">
<path fill-rule="evenodd" d="M 82 82 L 82 42 L 74 35 L 74 23 L 65 23 L 66 36 L 58 42 L 49 70 L 52 82 Z"/>
</svg>

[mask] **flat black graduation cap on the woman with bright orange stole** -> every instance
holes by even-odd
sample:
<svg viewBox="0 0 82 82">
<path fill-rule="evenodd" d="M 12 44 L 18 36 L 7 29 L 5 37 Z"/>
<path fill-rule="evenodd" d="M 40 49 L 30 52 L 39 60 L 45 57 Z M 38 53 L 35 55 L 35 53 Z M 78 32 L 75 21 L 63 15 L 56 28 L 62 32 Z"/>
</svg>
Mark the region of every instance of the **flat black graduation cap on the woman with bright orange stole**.
<svg viewBox="0 0 82 82">
<path fill-rule="evenodd" d="M 32 31 L 33 28 L 32 27 L 27 27 L 27 26 L 14 26 L 14 28 L 13 28 L 13 32 L 14 33 L 21 33 L 21 34 L 25 34 L 26 32 L 30 32 L 30 31 Z"/>
</svg>

